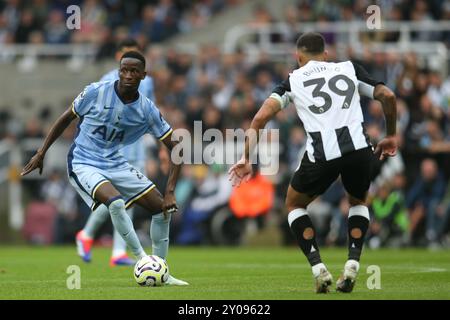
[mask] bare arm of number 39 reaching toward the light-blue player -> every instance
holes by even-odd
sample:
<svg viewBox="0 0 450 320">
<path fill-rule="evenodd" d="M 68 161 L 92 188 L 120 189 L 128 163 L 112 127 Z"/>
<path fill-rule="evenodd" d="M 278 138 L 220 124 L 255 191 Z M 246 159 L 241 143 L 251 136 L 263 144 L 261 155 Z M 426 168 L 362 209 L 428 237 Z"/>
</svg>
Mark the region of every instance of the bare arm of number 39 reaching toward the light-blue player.
<svg viewBox="0 0 450 320">
<path fill-rule="evenodd" d="M 264 129 L 267 122 L 281 110 L 280 102 L 274 98 L 267 98 L 258 110 L 250 125 L 250 132 L 245 137 L 245 149 L 241 160 L 228 170 L 229 180 L 233 186 L 239 186 L 243 181 L 248 181 L 252 174 L 250 156 L 259 139 L 259 130 Z"/>
</svg>

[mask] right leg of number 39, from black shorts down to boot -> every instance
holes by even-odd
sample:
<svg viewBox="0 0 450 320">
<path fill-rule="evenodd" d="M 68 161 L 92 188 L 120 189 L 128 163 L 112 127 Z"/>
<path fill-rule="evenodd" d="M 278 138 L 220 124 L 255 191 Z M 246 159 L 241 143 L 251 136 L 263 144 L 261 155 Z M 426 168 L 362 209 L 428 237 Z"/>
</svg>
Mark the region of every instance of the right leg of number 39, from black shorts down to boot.
<svg viewBox="0 0 450 320">
<path fill-rule="evenodd" d="M 348 193 L 348 259 L 344 271 L 336 282 L 340 292 L 351 292 L 359 271 L 365 235 L 369 229 L 369 209 L 366 205 L 367 191 L 372 176 L 373 154 L 371 148 L 355 151 L 347 157 L 341 176 Z"/>
</svg>

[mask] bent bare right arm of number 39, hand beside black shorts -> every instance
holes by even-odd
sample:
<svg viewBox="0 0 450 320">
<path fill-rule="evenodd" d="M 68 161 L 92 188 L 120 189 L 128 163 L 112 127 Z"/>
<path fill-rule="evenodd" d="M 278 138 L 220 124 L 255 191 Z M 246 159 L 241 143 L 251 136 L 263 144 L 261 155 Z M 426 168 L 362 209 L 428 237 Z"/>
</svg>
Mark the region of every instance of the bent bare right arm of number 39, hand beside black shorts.
<svg viewBox="0 0 450 320">
<path fill-rule="evenodd" d="M 397 105 L 394 92 L 385 85 L 379 84 L 375 87 L 373 96 L 381 102 L 383 113 L 386 119 L 386 137 L 382 139 L 375 149 L 375 153 L 380 153 L 380 160 L 385 157 L 393 157 L 397 153 L 396 124 Z"/>
</svg>

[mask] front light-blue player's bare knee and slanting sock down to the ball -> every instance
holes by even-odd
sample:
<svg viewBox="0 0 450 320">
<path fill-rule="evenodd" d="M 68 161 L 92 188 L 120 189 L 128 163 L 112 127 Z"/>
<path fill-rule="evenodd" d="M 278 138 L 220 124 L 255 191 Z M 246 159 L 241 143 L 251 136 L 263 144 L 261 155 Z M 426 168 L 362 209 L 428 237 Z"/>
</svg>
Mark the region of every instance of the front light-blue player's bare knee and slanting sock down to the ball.
<svg viewBox="0 0 450 320">
<path fill-rule="evenodd" d="M 133 222 L 127 214 L 125 200 L 110 182 L 103 183 L 94 192 L 93 197 L 106 205 L 111 215 L 114 228 L 137 258 L 145 256 L 145 251 L 139 242 L 133 227 Z"/>
</svg>

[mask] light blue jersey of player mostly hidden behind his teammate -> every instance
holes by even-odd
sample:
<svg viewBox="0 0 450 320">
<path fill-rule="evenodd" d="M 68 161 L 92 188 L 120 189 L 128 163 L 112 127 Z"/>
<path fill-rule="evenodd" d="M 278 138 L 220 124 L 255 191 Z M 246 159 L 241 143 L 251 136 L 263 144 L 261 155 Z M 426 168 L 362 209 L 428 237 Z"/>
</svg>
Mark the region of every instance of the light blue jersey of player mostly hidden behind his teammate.
<svg viewBox="0 0 450 320">
<path fill-rule="evenodd" d="M 106 73 L 100 81 L 115 81 L 119 80 L 119 70 L 113 69 Z M 154 86 L 153 79 L 149 76 L 146 76 L 144 80 L 139 84 L 139 92 L 154 101 Z M 141 137 L 135 143 L 124 146 L 121 150 L 125 158 L 130 162 L 131 165 L 136 166 L 139 170 L 142 170 L 145 166 L 145 145 L 144 138 Z"/>
</svg>

